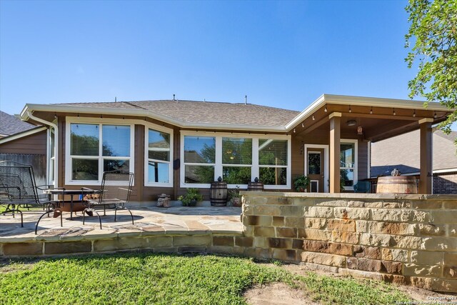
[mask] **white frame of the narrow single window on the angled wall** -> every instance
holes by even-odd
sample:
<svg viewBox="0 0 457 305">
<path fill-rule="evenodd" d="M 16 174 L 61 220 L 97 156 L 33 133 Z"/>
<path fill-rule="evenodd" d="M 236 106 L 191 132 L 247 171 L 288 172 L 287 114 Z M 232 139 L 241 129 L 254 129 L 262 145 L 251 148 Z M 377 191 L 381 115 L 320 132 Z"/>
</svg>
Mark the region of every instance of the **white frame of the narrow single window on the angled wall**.
<svg viewBox="0 0 457 305">
<path fill-rule="evenodd" d="M 169 164 L 169 182 L 149 182 L 149 129 L 154 129 L 155 131 L 165 132 L 166 134 L 170 135 L 170 160 L 163 161 L 163 160 L 154 160 L 161 163 L 168 163 Z M 156 124 L 148 123 L 144 125 L 144 186 L 160 186 L 160 187 L 173 187 L 173 159 L 174 159 L 174 150 L 173 150 L 173 129 L 166 128 L 164 126 L 159 126 Z M 161 149 L 156 149 L 157 151 Z M 166 149 L 164 149 L 166 151 Z"/>
</svg>

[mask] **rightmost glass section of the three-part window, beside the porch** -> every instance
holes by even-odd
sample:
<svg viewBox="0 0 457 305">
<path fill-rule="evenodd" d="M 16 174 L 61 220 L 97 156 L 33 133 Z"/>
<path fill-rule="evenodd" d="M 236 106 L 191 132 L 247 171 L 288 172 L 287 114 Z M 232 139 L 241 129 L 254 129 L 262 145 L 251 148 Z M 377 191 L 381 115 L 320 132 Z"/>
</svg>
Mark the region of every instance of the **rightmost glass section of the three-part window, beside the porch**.
<svg viewBox="0 0 457 305">
<path fill-rule="evenodd" d="M 260 166 L 260 181 L 263 184 L 287 184 L 287 151 L 287 140 L 258 140 L 258 164 Z"/>
</svg>

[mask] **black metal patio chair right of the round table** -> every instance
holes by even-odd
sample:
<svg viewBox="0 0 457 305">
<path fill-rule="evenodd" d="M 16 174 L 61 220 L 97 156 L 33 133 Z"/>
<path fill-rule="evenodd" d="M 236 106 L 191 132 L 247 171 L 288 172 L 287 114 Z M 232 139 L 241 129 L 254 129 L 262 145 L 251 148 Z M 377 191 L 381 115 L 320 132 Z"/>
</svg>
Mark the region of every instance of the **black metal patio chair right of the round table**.
<svg viewBox="0 0 457 305">
<path fill-rule="evenodd" d="M 101 218 L 98 212 L 103 207 L 104 215 L 106 215 L 106 209 L 114 209 L 114 221 L 116 221 L 117 211 L 124 209 L 129 211 L 131 216 L 131 223 L 134 224 L 134 215 L 126 207 L 129 203 L 131 187 L 134 182 L 134 173 L 126 171 L 105 171 L 103 173 L 103 179 L 101 181 L 101 190 L 98 194 L 98 198 L 86 197 L 86 209 L 83 211 L 83 224 L 86 213 L 95 214 L 99 217 L 100 229 L 101 229 Z M 92 189 L 83 188 L 84 190 L 94 191 Z"/>
</svg>

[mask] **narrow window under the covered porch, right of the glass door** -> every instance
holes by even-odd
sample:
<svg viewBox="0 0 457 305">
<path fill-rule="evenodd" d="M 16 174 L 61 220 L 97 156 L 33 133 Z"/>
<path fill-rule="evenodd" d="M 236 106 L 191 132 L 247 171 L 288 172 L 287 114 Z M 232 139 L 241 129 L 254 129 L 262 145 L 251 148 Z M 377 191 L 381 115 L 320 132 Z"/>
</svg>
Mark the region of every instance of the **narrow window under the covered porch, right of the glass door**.
<svg viewBox="0 0 457 305">
<path fill-rule="evenodd" d="M 341 141 L 340 144 L 340 179 L 343 181 L 344 189 L 353 189 L 357 180 L 356 174 L 356 141 Z"/>
</svg>

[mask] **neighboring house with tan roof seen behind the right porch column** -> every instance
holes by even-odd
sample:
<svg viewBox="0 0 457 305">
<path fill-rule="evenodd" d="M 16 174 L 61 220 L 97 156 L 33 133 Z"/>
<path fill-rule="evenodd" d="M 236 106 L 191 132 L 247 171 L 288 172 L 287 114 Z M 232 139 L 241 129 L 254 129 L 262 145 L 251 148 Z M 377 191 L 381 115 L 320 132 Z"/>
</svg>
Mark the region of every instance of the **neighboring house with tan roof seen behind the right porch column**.
<svg viewBox="0 0 457 305">
<path fill-rule="evenodd" d="M 419 131 L 378 141 L 371 146 L 371 178 L 389 176 L 398 169 L 404 176 L 419 175 Z M 457 131 L 433 131 L 433 194 L 457 194 Z"/>
</svg>

